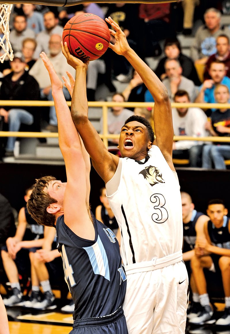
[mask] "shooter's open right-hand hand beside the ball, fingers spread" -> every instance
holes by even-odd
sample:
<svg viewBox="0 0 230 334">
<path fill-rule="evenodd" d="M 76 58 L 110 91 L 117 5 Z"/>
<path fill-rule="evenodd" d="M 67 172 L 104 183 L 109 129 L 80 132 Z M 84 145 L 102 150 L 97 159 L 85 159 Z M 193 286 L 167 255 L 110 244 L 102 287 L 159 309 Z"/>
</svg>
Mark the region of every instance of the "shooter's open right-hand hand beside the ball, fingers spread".
<svg viewBox="0 0 230 334">
<path fill-rule="evenodd" d="M 131 48 L 127 42 L 124 32 L 110 16 L 105 20 L 114 28 L 114 30 L 109 29 L 109 31 L 111 35 L 116 39 L 116 43 L 114 45 L 109 43 L 109 47 L 117 54 L 125 55 L 125 53 Z"/>
</svg>

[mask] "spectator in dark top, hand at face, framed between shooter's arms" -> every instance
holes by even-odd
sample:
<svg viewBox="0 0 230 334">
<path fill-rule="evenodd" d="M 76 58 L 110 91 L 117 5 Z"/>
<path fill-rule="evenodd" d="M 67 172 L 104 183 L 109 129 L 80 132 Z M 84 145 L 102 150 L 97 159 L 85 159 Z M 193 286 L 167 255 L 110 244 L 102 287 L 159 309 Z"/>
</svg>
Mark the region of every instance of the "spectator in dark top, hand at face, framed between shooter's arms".
<svg viewBox="0 0 230 334">
<path fill-rule="evenodd" d="M 129 81 L 128 86 L 122 92 L 122 95 L 127 102 L 144 102 L 144 94 L 147 88 L 145 87 L 140 75 L 133 70 L 133 77 Z M 134 110 L 134 108 L 128 108 Z"/>
</svg>

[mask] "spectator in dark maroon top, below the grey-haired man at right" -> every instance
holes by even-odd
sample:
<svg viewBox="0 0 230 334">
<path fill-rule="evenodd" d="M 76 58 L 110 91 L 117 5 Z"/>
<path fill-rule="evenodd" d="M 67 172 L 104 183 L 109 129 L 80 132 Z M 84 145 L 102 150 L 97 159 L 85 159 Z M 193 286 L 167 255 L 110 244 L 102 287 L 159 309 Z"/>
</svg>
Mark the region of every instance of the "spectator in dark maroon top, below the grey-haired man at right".
<svg viewBox="0 0 230 334">
<path fill-rule="evenodd" d="M 204 80 L 211 79 L 209 74 L 210 64 L 216 59 L 225 64 L 226 76 L 230 77 L 230 43 L 227 35 L 222 34 L 216 38 L 216 50 L 216 53 L 212 54 L 207 60 Z"/>
</svg>

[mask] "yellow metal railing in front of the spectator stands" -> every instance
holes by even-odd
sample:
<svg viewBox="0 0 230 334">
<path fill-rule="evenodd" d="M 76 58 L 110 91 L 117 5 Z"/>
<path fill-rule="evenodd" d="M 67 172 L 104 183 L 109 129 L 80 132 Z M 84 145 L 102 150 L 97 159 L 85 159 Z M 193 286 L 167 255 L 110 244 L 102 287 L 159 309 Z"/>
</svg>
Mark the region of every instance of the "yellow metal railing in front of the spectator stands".
<svg viewBox="0 0 230 334">
<path fill-rule="evenodd" d="M 49 107 L 53 106 L 52 101 L 8 101 L 1 100 L 0 106 L 12 106 L 12 107 Z M 67 102 L 67 105 L 70 107 L 71 102 Z M 103 129 L 102 133 L 99 134 L 103 140 L 106 147 L 108 147 L 108 139 L 118 139 L 119 135 L 108 134 L 108 108 L 113 106 L 123 106 L 123 107 L 140 107 L 140 108 L 153 108 L 154 103 L 146 102 L 88 102 L 89 107 L 98 107 L 102 108 L 102 117 L 103 117 Z M 172 108 L 190 108 L 197 107 L 201 109 L 230 109 L 230 104 L 218 104 L 218 103 L 172 103 Z M 33 138 L 57 138 L 58 133 L 51 132 L 9 132 L 9 131 L 0 131 L 0 137 L 33 137 Z M 189 136 L 175 136 L 175 141 L 178 140 L 197 140 L 197 141 L 206 141 L 206 142 L 230 142 L 230 137 L 189 137 Z"/>
</svg>

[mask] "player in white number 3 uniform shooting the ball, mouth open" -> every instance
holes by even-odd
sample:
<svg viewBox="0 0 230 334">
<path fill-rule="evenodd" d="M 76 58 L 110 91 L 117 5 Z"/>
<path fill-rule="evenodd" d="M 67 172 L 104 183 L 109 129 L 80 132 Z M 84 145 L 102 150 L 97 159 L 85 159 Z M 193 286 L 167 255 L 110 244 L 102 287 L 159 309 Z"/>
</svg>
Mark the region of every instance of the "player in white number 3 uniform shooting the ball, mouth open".
<svg viewBox="0 0 230 334">
<path fill-rule="evenodd" d="M 151 92 L 155 135 L 148 121 L 131 116 L 121 129 L 122 158 L 110 154 L 88 119 L 86 67 L 62 45 L 76 68 L 71 114 L 92 163 L 106 183 L 121 229 L 121 254 L 127 273 L 124 312 L 129 334 L 185 333 L 188 274 L 182 262 L 180 186 L 172 164 L 173 127 L 166 88 L 130 48 L 109 17 L 117 54 L 124 55 Z"/>
</svg>

